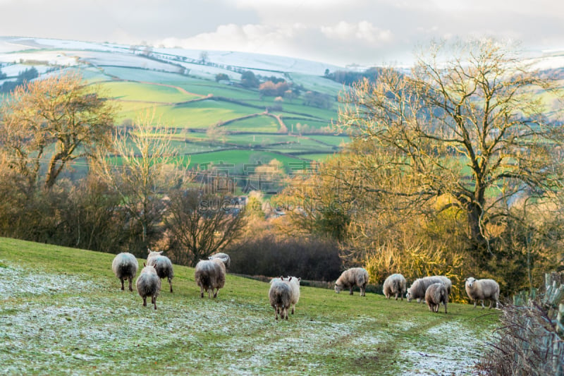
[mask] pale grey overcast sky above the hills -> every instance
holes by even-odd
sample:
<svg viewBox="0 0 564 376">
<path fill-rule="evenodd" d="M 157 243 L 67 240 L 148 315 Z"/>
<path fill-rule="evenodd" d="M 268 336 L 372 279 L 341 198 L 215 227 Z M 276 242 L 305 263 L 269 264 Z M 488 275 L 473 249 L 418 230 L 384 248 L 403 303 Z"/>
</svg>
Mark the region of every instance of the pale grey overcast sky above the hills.
<svg viewBox="0 0 564 376">
<path fill-rule="evenodd" d="M 564 1 L 0 0 L 0 35 L 403 64 L 433 38 L 564 50 Z"/>
</svg>

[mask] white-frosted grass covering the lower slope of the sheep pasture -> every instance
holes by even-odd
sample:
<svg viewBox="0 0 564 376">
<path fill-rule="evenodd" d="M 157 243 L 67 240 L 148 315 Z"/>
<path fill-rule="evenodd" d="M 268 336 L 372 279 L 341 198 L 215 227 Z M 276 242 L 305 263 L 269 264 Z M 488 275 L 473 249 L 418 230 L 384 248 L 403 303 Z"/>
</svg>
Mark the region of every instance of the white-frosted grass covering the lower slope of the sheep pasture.
<svg viewBox="0 0 564 376">
<path fill-rule="evenodd" d="M 6 375 L 54 370 L 132 375 L 146 372 L 149 363 L 171 375 L 271 375 L 282 369 L 332 374 L 349 364 L 384 361 L 382 349 L 417 329 L 404 321 L 383 330 L 381 319 L 368 315 L 308 320 L 299 307 L 290 320 L 275 321 L 266 298 L 264 305 L 225 295 L 171 299 L 167 291 L 155 311 L 143 307 L 135 291 L 120 291 L 114 279 L 11 266 L 0 267 L 0 296 L 0 363 Z M 443 323 L 419 335 L 424 344 L 393 354 L 398 374 L 472 373 L 482 340 L 462 323 Z"/>
</svg>

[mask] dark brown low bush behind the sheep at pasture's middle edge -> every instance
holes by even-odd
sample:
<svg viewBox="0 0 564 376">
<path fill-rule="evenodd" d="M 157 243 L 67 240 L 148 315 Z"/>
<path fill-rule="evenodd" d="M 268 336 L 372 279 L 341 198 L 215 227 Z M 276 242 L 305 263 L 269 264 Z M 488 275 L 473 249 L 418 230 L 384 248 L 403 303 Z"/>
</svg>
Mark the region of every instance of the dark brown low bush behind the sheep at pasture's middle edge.
<svg viewBox="0 0 564 376">
<path fill-rule="evenodd" d="M 341 273 L 338 245 L 322 238 L 276 238 L 264 233 L 226 252 L 231 256 L 230 271 L 237 274 L 332 281 Z"/>
</svg>

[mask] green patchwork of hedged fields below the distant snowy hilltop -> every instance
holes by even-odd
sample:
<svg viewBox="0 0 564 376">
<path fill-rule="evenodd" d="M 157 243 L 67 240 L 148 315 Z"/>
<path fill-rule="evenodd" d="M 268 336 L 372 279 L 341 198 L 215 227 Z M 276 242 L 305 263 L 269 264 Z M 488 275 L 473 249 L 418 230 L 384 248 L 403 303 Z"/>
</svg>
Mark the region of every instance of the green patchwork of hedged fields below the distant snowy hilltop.
<svg viewBox="0 0 564 376">
<path fill-rule="evenodd" d="M 225 67 L 182 62 L 180 65 L 195 74 L 190 75 L 190 71 L 180 74 L 181 68 L 174 65 L 181 62 L 178 59 L 176 63 L 171 60 L 171 64 L 121 49 L 112 61 L 112 54 L 85 51 L 86 63 L 69 69 L 80 71 L 88 83 L 99 84 L 104 95 L 116 100 L 119 109 L 116 123 L 137 121 L 148 110 L 154 111 L 153 125 L 176 128 L 173 145 L 180 154 L 190 155 L 190 166 L 220 161 L 236 165 L 268 163 L 276 158 L 291 171 L 288 164 L 333 154 L 348 140 L 311 135 L 326 131 L 338 116 L 337 102 L 332 102 L 331 109 L 304 104 L 307 90 L 319 91 L 333 99 L 342 90 L 340 84 L 321 76 L 271 73 L 303 87 L 301 97 L 275 100 L 262 97 L 257 88 L 239 87 L 240 72 Z M 135 63 L 142 66 L 128 66 Z M 172 73 L 176 70 L 179 73 Z M 217 83 L 214 72 L 228 74 L 233 83 Z M 265 72 L 268 73 L 260 74 Z M 210 139 L 207 130 L 218 125 L 219 132 Z M 307 137 L 300 137 L 301 134 Z"/>
</svg>

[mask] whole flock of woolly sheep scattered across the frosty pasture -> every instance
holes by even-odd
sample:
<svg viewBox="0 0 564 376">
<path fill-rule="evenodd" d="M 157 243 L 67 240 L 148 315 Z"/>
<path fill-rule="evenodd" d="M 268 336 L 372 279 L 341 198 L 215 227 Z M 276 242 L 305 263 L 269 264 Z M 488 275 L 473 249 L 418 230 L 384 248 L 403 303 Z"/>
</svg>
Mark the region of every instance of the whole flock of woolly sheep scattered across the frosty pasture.
<svg viewBox="0 0 564 376">
<path fill-rule="evenodd" d="M 219 289 L 225 285 L 226 270 L 231 265 L 229 255 L 225 253 L 216 253 L 209 256 L 209 260 L 200 260 L 195 268 L 195 281 L 200 286 L 200 296 L 204 297 L 204 291 L 211 298 L 217 297 Z M 129 291 L 133 291 L 133 279 L 137 275 L 139 265 L 137 259 L 131 253 L 119 253 L 114 257 L 111 269 L 116 277 L 121 280 L 121 289 L 124 290 L 124 281 L 129 281 Z M 135 281 L 137 293 L 143 299 L 143 305 L 147 306 L 147 298 L 151 297 L 151 303 L 154 309 L 157 309 L 157 296 L 161 291 L 161 279 L 168 279 L 168 284 L 172 289 L 172 279 L 174 277 L 173 266 L 171 260 L 162 255 L 162 252 L 153 252 L 149 250 L 147 262 L 143 262 L 143 269 Z M 275 319 L 278 316 L 281 319 L 288 320 L 288 310 L 294 314 L 295 305 L 300 299 L 300 281 L 298 277 L 280 277 L 270 281 L 269 301 L 274 308 Z M 341 277 L 335 282 L 335 292 L 349 289 L 350 295 L 353 295 L 353 288 L 357 286 L 360 289 L 360 296 L 366 296 L 366 286 L 368 284 L 368 272 L 362 267 L 353 267 L 345 270 Z M 439 306 L 448 304 L 448 295 L 452 288 L 450 279 L 444 276 L 431 276 L 416 279 L 407 289 L 407 281 L 402 274 L 391 274 L 384 281 L 384 296 L 398 297 L 403 301 L 405 294 L 407 301 L 417 299 L 420 303 L 424 300 L 429 306 L 431 312 L 439 312 Z M 474 301 L 474 308 L 478 301 L 482 301 L 482 308 L 485 308 L 484 301 L 489 300 L 489 308 L 492 308 L 494 301 L 496 307 L 499 304 L 499 285 L 493 279 L 474 279 L 467 278 L 465 282 L 466 293 L 468 297 Z"/>
</svg>

